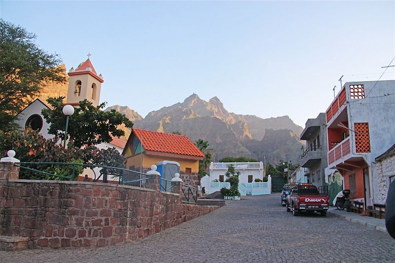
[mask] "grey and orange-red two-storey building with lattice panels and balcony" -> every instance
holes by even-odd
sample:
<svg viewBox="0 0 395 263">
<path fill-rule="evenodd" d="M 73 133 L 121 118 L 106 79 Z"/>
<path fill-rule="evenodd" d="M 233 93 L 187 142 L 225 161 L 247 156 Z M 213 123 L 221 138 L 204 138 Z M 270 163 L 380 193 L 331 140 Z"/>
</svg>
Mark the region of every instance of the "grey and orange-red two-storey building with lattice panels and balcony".
<svg viewBox="0 0 395 263">
<path fill-rule="evenodd" d="M 347 82 L 326 111 L 328 167 L 365 208 L 378 200 L 375 157 L 395 143 L 394 80 Z M 385 95 L 383 95 L 385 94 Z"/>
</svg>

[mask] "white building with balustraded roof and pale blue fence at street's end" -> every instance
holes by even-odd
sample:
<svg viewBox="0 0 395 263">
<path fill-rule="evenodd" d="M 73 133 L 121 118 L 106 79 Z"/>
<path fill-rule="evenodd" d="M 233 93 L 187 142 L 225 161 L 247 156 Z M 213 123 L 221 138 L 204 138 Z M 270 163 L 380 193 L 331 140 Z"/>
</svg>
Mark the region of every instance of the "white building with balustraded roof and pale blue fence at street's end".
<svg viewBox="0 0 395 263">
<path fill-rule="evenodd" d="M 229 188 L 226 172 L 233 165 L 238 176 L 238 190 L 241 195 L 257 195 L 271 193 L 271 178 L 268 182 L 255 182 L 255 179 L 263 180 L 264 166 L 262 162 L 211 162 L 210 175 L 200 180 L 200 184 L 208 193 L 219 191 L 221 188 Z"/>
</svg>

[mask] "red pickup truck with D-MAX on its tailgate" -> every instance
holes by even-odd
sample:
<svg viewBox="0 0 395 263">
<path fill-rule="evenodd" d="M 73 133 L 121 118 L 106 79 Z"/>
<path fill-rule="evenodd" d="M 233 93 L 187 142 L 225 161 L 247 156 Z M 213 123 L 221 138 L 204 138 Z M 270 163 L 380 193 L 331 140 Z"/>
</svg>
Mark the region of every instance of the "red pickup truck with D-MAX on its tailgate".
<svg viewBox="0 0 395 263">
<path fill-rule="evenodd" d="M 287 212 L 292 210 L 294 216 L 302 211 L 317 211 L 321 216 L 326 216 L 329 208 L 328 187 L 316 188 L 312 184 L 298 184 L 288 194 L 286 208 Z"/>
</svg>

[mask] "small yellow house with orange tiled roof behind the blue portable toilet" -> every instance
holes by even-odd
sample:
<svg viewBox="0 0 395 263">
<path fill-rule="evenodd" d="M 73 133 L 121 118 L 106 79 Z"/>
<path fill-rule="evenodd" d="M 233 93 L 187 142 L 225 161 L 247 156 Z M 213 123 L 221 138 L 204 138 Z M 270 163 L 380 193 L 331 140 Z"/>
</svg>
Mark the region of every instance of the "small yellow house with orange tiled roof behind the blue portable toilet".
<svg viewBox="0 0 395 263">
<path fill-rule="evenodd" d="M 135 128 L 122 155 L 126 168 L 143 173 L 159 161 L 176 161 L 180 164 L 180 178 L 192 186 L 197 186 L 199 160 L 204 158 L 187 136 Z"/>
</svg>

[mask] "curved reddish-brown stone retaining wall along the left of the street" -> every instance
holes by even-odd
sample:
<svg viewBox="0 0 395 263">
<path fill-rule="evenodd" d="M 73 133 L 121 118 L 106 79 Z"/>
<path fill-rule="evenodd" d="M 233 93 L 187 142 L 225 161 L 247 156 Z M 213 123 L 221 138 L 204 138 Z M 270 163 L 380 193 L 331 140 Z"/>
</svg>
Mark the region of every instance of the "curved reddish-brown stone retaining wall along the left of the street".
<svg viewBox="0 0 395 263">
<path fill-rule="evenodd" d="M 138 188 L 19 180 L 18 169 L 0 162 L 0 235 L 28 237 L 29 248 L 125 243 L 218 208 L 183 204 L 181 186 L 159 191 L 158 176 Z"/>
</svg>

